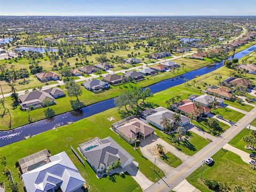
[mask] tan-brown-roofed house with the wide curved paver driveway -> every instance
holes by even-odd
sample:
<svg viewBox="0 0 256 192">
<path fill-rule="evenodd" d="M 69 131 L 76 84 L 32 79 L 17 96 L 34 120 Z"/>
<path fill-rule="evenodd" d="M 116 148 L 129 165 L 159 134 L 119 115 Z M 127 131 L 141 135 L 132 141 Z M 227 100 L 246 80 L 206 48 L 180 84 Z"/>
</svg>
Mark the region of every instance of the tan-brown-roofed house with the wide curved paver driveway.
<svg viewBox="0 0 256 192">
<path fill-rule="evenodd" d="M 128 117 L 111 125 L 112 129 L 129 143 L 134 143 L 138 138 L 146 139 L 154 134 L 154 128 L 138 118 Z"/>
</svg>

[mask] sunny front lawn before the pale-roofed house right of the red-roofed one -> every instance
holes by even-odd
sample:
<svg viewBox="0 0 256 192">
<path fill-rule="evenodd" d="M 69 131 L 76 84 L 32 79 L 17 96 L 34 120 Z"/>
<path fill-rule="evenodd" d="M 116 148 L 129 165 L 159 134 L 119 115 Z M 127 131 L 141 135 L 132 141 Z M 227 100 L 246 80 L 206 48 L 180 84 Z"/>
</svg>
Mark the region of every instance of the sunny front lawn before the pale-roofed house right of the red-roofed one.
<svg viewBox="0 0 256 192">
<path fill-rule="evenodd" d="M 238 122 L 238 120 L 244 116 L 244 114 L 228 108 L 212 109 L 211 113 L 215 115 L 222 115 L 224 119 L 227 119 L 228 121 L 231 121 L 234 123 Z"/>
</svg>

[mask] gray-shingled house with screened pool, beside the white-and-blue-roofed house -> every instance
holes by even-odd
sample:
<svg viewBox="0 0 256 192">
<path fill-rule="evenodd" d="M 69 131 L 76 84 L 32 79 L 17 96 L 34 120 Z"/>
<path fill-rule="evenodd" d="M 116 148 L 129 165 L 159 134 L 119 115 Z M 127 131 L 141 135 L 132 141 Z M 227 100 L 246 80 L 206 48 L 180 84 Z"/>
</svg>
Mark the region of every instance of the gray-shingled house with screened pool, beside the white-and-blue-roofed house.
<svg viewBox="0 0 256 192">
<path fill-rule="evenodd" d="M 95 172 L 105 172 L 109 165 L 119 161 L 121 167 L 133 163 L 133 157 L 111 137 L 94 138 L 79 145 L 79 150 Z"/>
</svg>

